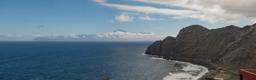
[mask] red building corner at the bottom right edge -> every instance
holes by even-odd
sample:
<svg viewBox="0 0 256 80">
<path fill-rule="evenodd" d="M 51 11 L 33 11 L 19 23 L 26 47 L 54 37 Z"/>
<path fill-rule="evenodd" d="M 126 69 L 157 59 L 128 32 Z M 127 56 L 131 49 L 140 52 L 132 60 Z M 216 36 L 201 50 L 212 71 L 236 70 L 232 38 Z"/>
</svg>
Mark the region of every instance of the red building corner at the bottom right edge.
<svg viewBox="0 0 256 80">
<path fill-rule="evenodd" d="M 256 70 L 239 69 L 239 80 L 243 80 L 243 75 L 245 76 L 245 80 L 256 80 Z"/>
</svg>

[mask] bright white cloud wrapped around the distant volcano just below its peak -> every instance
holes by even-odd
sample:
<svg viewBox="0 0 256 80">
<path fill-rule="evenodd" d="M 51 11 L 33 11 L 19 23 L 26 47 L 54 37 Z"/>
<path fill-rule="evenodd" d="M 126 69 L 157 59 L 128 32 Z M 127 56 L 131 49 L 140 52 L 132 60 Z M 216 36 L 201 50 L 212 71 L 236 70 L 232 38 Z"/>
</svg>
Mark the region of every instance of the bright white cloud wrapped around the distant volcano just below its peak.
<svg viewBox="0 0 256 80">
<path fill-rule="evenodd" d="M 129 33 L 129 32 L 110 32 L 110 33 L 105 33 L 101 35 L 97 35 L 96 37 L 98 38 L 160 38 L 160 37 L 167 37 L 165 35 L 158 35 L 154 33 L 150 34 L 142 34 L 142 33 Z"/>
</svg>

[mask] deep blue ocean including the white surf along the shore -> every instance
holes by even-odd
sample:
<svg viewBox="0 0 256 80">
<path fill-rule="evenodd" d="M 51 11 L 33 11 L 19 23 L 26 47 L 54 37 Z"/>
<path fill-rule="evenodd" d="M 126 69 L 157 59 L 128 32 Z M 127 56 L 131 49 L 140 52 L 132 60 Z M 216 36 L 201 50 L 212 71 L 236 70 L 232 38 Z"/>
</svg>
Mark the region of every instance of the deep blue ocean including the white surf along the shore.
<svg viewBox="0 0 256 80">
<path fill-rule="evenodd" d="M 196 80 L 208 72 L 144 54 L 152 43 L 0 41 L 0 80 Z"/>
</svg>

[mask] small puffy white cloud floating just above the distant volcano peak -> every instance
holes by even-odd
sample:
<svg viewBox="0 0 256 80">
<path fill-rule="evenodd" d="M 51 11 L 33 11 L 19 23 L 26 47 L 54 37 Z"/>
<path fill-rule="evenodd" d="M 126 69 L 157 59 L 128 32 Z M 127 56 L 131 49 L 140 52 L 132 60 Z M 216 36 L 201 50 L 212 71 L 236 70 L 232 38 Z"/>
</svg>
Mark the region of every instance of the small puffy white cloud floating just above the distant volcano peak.
<svg viewBox="0 0 256 80">
<path fill-rule="evenodd" d="M 115 20 L 107 21 L 107 22 L 133 22 L 134 17 L 129 16 L 128 14 L 121 13 L 119 16 L 115 16 Z"/>
</svg>

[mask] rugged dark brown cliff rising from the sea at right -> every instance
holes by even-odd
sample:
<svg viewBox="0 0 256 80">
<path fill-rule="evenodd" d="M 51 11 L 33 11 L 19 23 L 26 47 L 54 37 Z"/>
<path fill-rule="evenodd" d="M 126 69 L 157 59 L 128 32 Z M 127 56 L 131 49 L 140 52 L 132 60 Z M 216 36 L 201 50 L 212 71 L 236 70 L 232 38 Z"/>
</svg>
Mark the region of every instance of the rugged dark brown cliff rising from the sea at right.
<svg viewBox="0 0 256 80">
<path fill-rule="evenodd" d="M 213 69 L 218 66 L 237 72 L 238 69 L 256 69 L 255 28 L 256 24 L 209 30 L 192 25 L 181 29 L 176 38 L 169 36 L 154 42 L 146 54 L 168 56 Z"/>
</svg>

